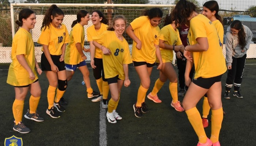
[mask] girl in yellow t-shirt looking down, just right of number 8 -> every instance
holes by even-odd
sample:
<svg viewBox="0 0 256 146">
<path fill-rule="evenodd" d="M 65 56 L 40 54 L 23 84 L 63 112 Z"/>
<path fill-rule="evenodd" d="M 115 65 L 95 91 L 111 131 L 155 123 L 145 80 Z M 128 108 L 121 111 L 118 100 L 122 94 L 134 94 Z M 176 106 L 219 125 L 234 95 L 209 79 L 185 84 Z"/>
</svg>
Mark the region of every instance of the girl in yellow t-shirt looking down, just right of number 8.
<svg viewBox="0 0 256 146">
<path fill-rule="evenodd" d="M 155 65 L 156 57 L 159 60 L 157 69 L 162 68 L 162 58 L 159 49 L 158 24 L 161 22 L 163 12 L 159 8 L 144 11 L 144 16 L 133 20 L 126 28 L 126 33 L 133 39 L 132 61 L 140 77 L 137 102 L 133 105 L 134 114 L 141 118 L 142 112 L 147 113 L 145 103 L 146 93 L 150 87 L 150 74 Z"/>
</svg>

